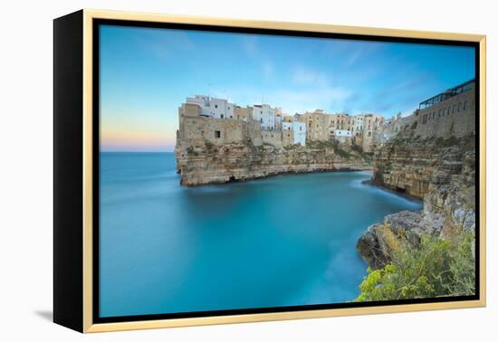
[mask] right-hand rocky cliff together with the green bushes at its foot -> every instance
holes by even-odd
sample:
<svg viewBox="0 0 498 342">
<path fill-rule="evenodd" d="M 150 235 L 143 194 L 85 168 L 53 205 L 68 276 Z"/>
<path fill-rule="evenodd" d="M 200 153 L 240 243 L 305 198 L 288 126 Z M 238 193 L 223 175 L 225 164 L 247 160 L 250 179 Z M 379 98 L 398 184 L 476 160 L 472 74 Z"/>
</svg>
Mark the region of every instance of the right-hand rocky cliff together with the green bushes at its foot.
<svg viewBox="0 0 498 342">
<path fill-rule="evenodd" d="M 355 301 L 475 293 L 475 137 L 395 138 L 373 157 L 372 183 L 424 201 L 361 234 L 369 263 Z"/>
</svg>

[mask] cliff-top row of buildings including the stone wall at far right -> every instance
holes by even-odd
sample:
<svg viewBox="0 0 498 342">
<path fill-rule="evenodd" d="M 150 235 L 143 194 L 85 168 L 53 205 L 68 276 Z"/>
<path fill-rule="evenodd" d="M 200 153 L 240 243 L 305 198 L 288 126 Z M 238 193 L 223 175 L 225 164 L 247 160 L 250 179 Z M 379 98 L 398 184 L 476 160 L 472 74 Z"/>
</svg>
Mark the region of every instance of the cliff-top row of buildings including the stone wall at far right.
<svg viewBox="0 0 498 342">
<path fill-rule="evenodd" d="M 287 115 L 269 104 L 241 107 L 205 95 L 187 98 L 178 109 L 178 143 L 216 146 L 251 141 L 254 146 L 306 146 L 313 141 L 339 141 L 372 152 L 400 134 L 422 138 L 462 137 L 475 129 L 474 80 L 445 90 L 407 117 L 390 119 L 378 114 L 349 115 L 322 109 Z"/>
</svg>

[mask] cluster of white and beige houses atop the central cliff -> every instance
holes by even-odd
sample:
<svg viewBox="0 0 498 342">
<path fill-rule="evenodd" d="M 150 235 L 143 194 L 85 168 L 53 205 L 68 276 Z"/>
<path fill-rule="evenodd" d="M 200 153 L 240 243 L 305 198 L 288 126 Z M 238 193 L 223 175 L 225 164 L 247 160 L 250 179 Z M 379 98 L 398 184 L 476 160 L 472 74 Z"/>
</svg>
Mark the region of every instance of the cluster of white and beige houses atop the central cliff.
<svg viewBox="0 0 498 342">
<path fill-rule="evenodd" d="M 194 118 L 196 120 L 192 121 Z M 281 108 L 269 104 L 241 107 L 228 100 L 206 95 L 187 98 L 179 108 L 179 119 L 179 138 L 208 139 L 217 145 L 236 142 L 239 138 L 251 138 L 257 145 L 260 142 L 258 136 L 261 136 L 261 143 L 279 147 L 295 144 L 305 146 L 307 141 L 337 139 L 359 145 L 366 151 L 371 150 L 376 132 L 384 120 L 375 114 L 350 116 L 330 114 L 321 109 L 290 116 L 284 114 Z M 242 121 L 249 127 L 237 126 L 235 122 L 229 125 L 234 120 Z M 213 135 L 209 129 L 213 130 Z M 226 129 L 240 129 L 241 134 L 236 131 L 230 133 Z"/>
</svg>

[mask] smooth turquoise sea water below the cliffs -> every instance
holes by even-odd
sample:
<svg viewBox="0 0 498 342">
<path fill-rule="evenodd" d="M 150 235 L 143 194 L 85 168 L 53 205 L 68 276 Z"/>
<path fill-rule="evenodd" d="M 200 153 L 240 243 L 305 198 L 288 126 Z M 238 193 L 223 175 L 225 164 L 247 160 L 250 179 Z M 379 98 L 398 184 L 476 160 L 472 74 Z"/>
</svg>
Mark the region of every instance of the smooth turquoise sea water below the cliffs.
<svg viewBox="0 0 498 342">
<path fill-rule="evenodd" d="M 365 172 L 179 186 L 172 153 L 101 154 L 101 316 L 354 299 L 359 235 L 421 204 Z"/>
</svg>

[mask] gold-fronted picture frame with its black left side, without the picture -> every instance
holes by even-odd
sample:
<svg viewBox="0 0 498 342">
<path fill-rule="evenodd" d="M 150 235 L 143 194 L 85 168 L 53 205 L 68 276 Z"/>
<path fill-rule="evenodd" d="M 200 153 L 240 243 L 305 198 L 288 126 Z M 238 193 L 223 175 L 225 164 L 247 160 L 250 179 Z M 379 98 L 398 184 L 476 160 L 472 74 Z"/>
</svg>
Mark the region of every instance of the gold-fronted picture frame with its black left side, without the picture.
<svg viewBox="0 0 498 342">
<path fill-rule="evenodd" d="M 430 40 L 444 40 L 444 41 L 455 41 L 455 42 L 472 42 L 478 44 L 479 49 L 479 213 L 476 214 L 479 217 L 479 299 L 475 300 L 463 300 L 463 301 L 445 301 L 445 302 L 426 302 L 426 303 L 415 303 L 415 304 L 400 304 L 400 305 L 388 305 L 388 306 L 365 306 L 360 308 L 340 308 L 340 309 L 312 309 L 303 311 L 283 311 L 283 312 L 266 312 L 266 313 L 250 313 L 241 315 L 230 315 L 230 316 L 214 316 L 214 317 L 193 317 L 193 318 L 168 318 L 168 319 L 153 319 L 153 320 L 130 320 L 123 322 L 110 322 L 110 323 L 95 323 L 93 320 L 94 311 L 94 301 L 93 301 L 93 223 L 95 220 L 93 212 L 93 160 L 95 149 L 93 146 L 93 122 L 92 122 L 92 112 L 95 103 L 93 102 L 94 89 L 93 89 L 93 68 L 94 68 L 94 55 L 93 55 L 93 43 L 94 43 L 94 30 L 93 23 L 95 20 L 116 20 L 116 21 L 127 21 L 127 22 L 144 22 L 144 23 L 173 23 L 173 24 L 196 24 L 196 25 L 208 25 L 208 26 L 225 26 L 225 27 L 236 27 L 236 28 L 251 28 L 251 29 L 271 29 L 271 30 L 285 30 L 289 32 L 311 32 L 311 33 L 340 33 L 340 34 L 356 34 L 362 36 L 374 36 L 374 37 L 397 37 L 397 38 L 414 38 L 414 39 L 430 39 Z M 69 14 L 66 17 L 55 20 L 55 30 L 54 30 L 54 66 L 55 69 L 59 68 L 58 53 L 65 53 L 65 49 L 71 48 L 71 44 L 75 43 L 81 49 L 74 53 L 81 53 L 81 70 L 78 71 L 78 75 L 75 76 L 75 84 L 81 81 L 81 93 L 78 90 L 73 89 L 62 89 L 62 86 L 54 88 L 54 102 L 55 102 L 55 120 L 62 118 L 62 115 L 68 116 L 68 110 L 81 109 L 81 116 L 75 115 L 72 119 L 71 124 L 74 125 L 75 129 L 81 128 L 81 154 L 78 156 L 81 158 L 81 164 L 75 166 L 81 168 L 81 173 L 77 175 L 63 174 L 63 171 L 57 171 L 57 160 L 58 155 L 55 154 L 55 168 L 56 174 L 54 180 L 56 183 L 65 185 L 67 182 L 78 182 L 77 185 L 81 187 L 81 202 L 79 202 L 76 208 L 74 206 L 71 210 L 64 207 L 64 205 L 70 205 L 67 202 L 62 203 L 62 199 L 55 201 L 57 205 L 55 206 L 55 213 L 57 215 L 58 210 L 65 210 L 66 213 L 78 212 L 81 210 L 81 218 L 79 220 L 72 221 L 71 217 L 67 217 L 65 221 L 64 229 L 72 229 L 72 225 L 80 225 L 81 230 L 77 230 L 73 236 L 66 236 L 62 232 L 62 219 L 56 219 L 54 223 L 54 320 L 66 327 L 74 328 L 81 332 L 103 332 L 103 331 L 117 331 L 117 330 L 129 330 L 129 329 L 145 329 L 145 328 L 169 328 L 169 327 L 187 327 L 196 325 L 215 325 L 215 324 L 225 324 L 225 323 L 242 323 L 242 322 L 256 322 L 256 321 L 269 321 L 269 320 L 282 320 L 282 319 L 297 319 L 297 318 L 324 318 L 324 317 L 336 317 L 336 316 L 351 316 L 351 315 L 366 315 L 366 314 L 382 314 L 382 313 L 394 313 L 394 312 L 407 312 L 407 311 L 421 311 L 421 310 L 437 310 L 437 309 L 464 309 L 464 308 L 478 308 L 484 307 L 486 303 L 485 295 L 485 284 L 486 284 L 486 270 L 485 270 L 485 189 L 486 189 L 486 152 L 485 152 L 485 104 L 486 104 L 486 38 L 484 35 L 478 34 L 464 34 L 464 33 L 436 33 L 436 32 L 424 32 L 424 31 L 410 31 L 410 30 L 394 30 L 394 29 L 383 29 L 383 28 L 368 28 L 368 27 L 356 27 L 356 26 L 340 26 L 331 24 L 303 24 L 303 23 L 287 23 L 287 22 L 267 22 L 267 21 L 253 21 L 253 20 L 235 20 L 226 18 L 209 18 L 209 17 L 198 17 L 189 15 L 170 15 L 170 14 L 147 14 L 147 13 L 130 13 L 130 12 L 117 12 L 117 11 L 101 11 L 101 10 L 91 10 L 84 9 L 76 14 Z M 65 36 L 68 35 L 68 30 L 72 28 L 77 30 L 74 37 Z M 61 33 L 65 31 L 66 33 Z M 80 34 L 81 33 L 81 34 Z M 58 35 L 59 34 L 59 35 Z M 79 37 L 79 38 L 78 38 Z M 73 72 L 74 68 L 67 67 L 65 70 L 70 70 Z M 60 77 L 65 77 L 62 73 L 65 71 L 54 71 L 54 78 L 57 81 L 58 75 Z M 69 71 L 67 71 L 69 72 Z M 76 72 L 76 71 L 74 71 Z M 74 94 L 72 97 L 74 99 L 79 99 L 76 101 L 78 103 L 74 104 L 62 104 L 58 105 L 60 99 L 65 94 L 64 91 L 72 91 Z M 68 95 L 69 96 L 69 95 Z M 64 107 L 69 106 L 69 107 Z M 74 107 L 71 107 L 74 106 Z M 65 113 L 63 114 L 62 113 Z M 66 120 L 71 120 L 65 118 Z M 61 125 L 66 125 L 66 123 L 61 123 Z M 57 136 L 57 122 L 55 123 L 55 135 Z M 76 138 L 78 138 L 76 137 Z M 62 137 L 63 138 L 63 137 Z M 67 138 L 67 137 L 66 137 Z M 60 141 L 59 141 L 60 142 Z M 55 150 L 57 150 L 58 140 L 55 138 Z M 64 157 L 62 150 L 59 151 L 60 158 Z M 69 171 L 67 171 L 69 172 Z M 57 184 L 54 185 L 56 188 L 56 195 L 58 194 Z M 61 190 L 62 191 L 62 190 Z M 77 195 L 78 195 L 77 194 Z M 57 197 L 57 196 L 55 196 Z M 62 196 L 63 197 L 63 196 Z M 62 198 L 59 197 L 59 198 Z M 80 208 L 80 209 L 78 209 Z M 80 229 L 79 228 L 79 229 Z M 78 246 L 76 252 L 81 252 L 81 259 L 74 259 L 71 254 L 75 253 L 67 252 L 58 243 L 66 243 L 69 245 Z M 81 245 L 78 245 L 81 243 Z M 70 253 L 71 255 L 69 255 Z M 62 261 L 65 259 L 65 261 Z M 67 277 L 66 268 L 69 267 L 70 262 L 81 261 L 80 266 L 76 267 L 76 273 L 72 275 L 71 281 L 65 279 Z M 77 283 L 81 282 L 81 286 L 74 289 L 73 294 L 68 294 L 67 292 L 62 295 L 61 293 L 64 289 L 72 286 L 75 281 Z M 70 307 L 75 308 L 75 310 L 80 310 L 75 315 L 71 316 Z"/>
</svg>

